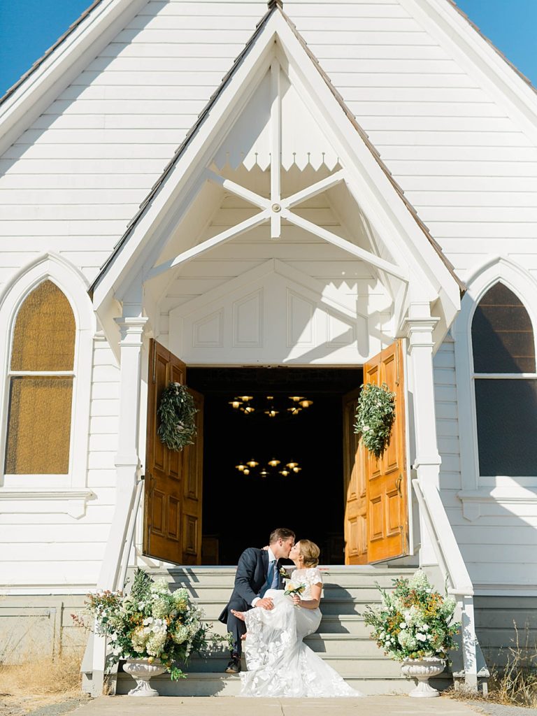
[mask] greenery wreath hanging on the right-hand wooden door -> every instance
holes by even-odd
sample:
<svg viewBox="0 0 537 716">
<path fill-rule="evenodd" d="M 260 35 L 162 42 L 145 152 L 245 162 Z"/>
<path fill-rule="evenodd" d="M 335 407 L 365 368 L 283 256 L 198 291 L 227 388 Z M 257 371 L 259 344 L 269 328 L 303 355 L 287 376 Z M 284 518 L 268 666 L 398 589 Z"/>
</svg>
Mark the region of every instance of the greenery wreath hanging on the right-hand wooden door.
<svg viewBox="0 0 537 716">
<path fill-rule="evenodd" d="M 362 434 L 362 442 L 377 460 L 390 445 L 392 425 L 395 421 L 395 393 L 386 383 L 362 384 L 354 416 L 354 432 Z"/>
</svg>

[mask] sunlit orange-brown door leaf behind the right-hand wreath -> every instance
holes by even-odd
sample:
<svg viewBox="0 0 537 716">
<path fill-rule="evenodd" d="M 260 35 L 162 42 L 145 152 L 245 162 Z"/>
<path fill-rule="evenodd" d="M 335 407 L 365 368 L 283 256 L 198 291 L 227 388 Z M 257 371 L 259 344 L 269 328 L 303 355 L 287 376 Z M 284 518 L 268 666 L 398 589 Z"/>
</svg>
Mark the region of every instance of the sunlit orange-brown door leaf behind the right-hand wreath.
<svg viewBox="0 0 537 716">
<path fill-rule="evenodd" d="M 402 342 L 396 341 L 364 365 L 364 383 L 395 392 L 390 445 L 380 460 L 364 452 L 369 563 L 407 554 L 408 507 L 405 436 L 405 385 Z"/>
</svg>

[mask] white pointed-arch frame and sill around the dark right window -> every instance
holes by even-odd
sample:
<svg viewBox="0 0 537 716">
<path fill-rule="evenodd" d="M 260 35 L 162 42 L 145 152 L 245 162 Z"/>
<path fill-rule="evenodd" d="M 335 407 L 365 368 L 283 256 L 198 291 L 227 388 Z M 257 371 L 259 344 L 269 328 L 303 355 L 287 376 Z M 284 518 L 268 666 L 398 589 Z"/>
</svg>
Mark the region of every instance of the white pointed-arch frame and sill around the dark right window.
<svg viewBox="0 0 537 716">
<path fill-rule="evenodd" d="M 473 317 L 483 296 L 498 282 L 513 291 L 528 312 L 537 357 L 537 281 L 526 269 L 509 258 L 490 256 L 482 266 L 466 278 L 468 291 L 461 301 L 460 313 L 452 329 L 455 339 L 456 407 L 460 447 L 461 490 L 458 492 L 458 498 L 463 503 L 463 515 L 470 521 L 480 516 L 495 514 L 497 504 L 503 504 L 508 508 L 508 505 L 519 502 L 537 503 L 537 476 L 480 474 L 475 380 L 535 379 L 537 381 L 537 372 L 478 373 L 474 370 Z M 495 478 L 500 478 L 498 484 L 493 483 Z M 520 480 L 523 480 L 523 483 Z M 501 484 L 502 482 L 509 484 Z"/>
</svg>

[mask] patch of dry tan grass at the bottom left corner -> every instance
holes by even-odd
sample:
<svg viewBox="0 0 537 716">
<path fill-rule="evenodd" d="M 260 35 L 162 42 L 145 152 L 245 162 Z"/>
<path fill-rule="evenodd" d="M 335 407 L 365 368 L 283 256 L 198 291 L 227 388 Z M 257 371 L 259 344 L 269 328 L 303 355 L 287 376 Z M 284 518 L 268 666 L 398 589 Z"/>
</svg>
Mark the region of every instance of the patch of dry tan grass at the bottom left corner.
<svg viewBox="0 0 537 716">
<path fill-rule="evenodd" d="M 0 712 L 13 716 L 68 699 L 82 697 L 82 653 L 51 659 L 25 659 L 0 666 Z"/>
</svg>

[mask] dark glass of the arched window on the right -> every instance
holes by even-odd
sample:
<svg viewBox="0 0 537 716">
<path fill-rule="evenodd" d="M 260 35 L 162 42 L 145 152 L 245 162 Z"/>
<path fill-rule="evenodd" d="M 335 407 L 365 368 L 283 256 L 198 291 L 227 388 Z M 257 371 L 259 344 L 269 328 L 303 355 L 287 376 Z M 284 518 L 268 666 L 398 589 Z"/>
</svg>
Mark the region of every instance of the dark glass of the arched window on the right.
<svg viewBox="0 0 537 716">
<path fill-rule="evenodd" d="M 472 321 L 480 475 L 537 475 L 537 375 L 533 326 L 498 283 Z"/>
</svg>

